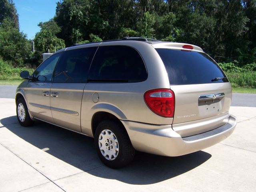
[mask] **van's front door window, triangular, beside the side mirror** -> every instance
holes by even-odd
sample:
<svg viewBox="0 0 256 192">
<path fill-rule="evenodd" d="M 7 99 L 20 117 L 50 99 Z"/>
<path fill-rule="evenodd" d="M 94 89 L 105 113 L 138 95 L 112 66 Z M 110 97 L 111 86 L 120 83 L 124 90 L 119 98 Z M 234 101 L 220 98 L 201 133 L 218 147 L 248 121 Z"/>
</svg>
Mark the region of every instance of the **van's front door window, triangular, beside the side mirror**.
<svg viewBox="0 0 256 192">
<path fill-rule="evenodd" d="M 33 80 L 36 81 L 52 81 L 52 74 L 56 63 L 60 57 L 60 53 L 46 59 L 34 72 Z"/>
</svg>

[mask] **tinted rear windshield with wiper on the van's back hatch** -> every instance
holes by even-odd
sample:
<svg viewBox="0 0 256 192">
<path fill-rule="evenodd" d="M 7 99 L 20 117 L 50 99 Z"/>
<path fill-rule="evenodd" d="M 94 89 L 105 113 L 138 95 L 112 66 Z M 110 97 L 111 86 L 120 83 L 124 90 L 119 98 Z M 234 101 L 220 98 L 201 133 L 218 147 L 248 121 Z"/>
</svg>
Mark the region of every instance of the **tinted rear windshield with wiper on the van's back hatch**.
<svg viewBox="0 0 256 192">
<path fill-rule="evenodd" d="M 172 85 L 228 82 L 220 67 L 205 53 L 166 48 L 156 51 Z"/>
</svg>

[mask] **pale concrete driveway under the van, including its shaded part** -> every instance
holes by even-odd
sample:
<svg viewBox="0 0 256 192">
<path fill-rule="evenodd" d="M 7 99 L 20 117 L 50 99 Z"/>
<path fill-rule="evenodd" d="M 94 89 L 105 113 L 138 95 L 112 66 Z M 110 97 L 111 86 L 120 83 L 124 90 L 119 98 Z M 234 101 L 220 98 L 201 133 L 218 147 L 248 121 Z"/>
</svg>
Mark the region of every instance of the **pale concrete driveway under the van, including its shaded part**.
<svg viewBox="0 0 256 192">
<path fill-rule="evenodd" d="M 256 108 L 231 107 L 234 133 L 180 157 L 138 152 L 129 166 L 104 166 L 92 138 L 36 122 L 18 124 L 14 99 L 0 98 L 0 191 L 254 191 Z"/>
</svg>

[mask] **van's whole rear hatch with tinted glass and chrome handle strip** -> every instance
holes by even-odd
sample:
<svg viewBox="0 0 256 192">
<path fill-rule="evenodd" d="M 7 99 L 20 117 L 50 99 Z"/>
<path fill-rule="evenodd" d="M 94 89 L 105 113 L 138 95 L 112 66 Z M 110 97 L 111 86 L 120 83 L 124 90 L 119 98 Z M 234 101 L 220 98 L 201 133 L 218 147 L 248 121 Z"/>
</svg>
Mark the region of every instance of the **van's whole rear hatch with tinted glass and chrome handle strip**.
<svg viewBox="0 0 256 192">
<path fill-rule="evenodd" d="M 175 95 L 173 129 L 185 137 L 226 124 L 232 97 L 226 75 L 200 48 L 175 45 L 156 47 Z"/>
</svg>

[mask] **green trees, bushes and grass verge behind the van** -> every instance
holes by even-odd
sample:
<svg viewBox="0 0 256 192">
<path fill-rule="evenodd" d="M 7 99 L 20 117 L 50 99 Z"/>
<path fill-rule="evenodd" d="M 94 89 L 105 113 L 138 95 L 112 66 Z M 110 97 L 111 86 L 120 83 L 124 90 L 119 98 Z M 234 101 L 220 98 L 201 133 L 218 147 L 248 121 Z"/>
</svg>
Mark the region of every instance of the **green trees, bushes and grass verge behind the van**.
<svg viewBox="0 0 256 192">
<path fill-rule="evenodd" d="M 14 2 L 1 0 L 0 84 L 17 83 L 20 71 L 32 72 L 44 52 L 140 36 L 200 46 L 220 64 L 233 90 L 254 90 L 255 20 L 256 0 L 61 0 L 31 40 L 19 29 Z"/>
</svg>

